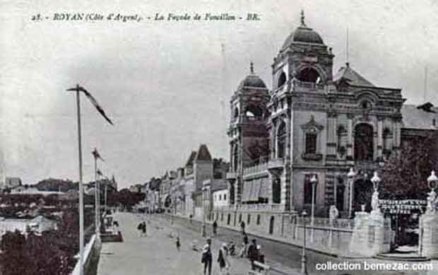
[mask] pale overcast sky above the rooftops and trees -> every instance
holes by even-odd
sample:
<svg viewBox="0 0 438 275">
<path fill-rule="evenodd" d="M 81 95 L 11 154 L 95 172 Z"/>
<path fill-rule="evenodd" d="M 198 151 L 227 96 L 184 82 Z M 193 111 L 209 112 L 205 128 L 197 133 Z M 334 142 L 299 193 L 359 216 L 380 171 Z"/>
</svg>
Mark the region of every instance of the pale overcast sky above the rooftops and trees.
<svg viewBox="0 0 438 275">
<path fill-rule="evenodd" d="M 82 98 L 84 180 L 91 151 L 119 186 L 184 165 L 208 145 L 228 159 L 229 100 L 254 62 L 271 88 L 271 64 L 300 23 L 333 47 L 333 71 L 346 61 L 376 86 L 402 88 L 407 103 L 438 103 L 437 1 L 1 1 L 1 150 L 6 175 L 32 184 L 78 180 L 76 83 L 95 95 L 114 127 Z M 85 1 L 91 2 L 91 1 Z M 184 2 L 184 4 L 183 4 Z M 228 13 L 260 21 L 32 22 L 36 13 Z M 223 51 L 221 45 L 224 45 Z M 223 107 L 221 107 L 221 102 Z"/>
</svg>

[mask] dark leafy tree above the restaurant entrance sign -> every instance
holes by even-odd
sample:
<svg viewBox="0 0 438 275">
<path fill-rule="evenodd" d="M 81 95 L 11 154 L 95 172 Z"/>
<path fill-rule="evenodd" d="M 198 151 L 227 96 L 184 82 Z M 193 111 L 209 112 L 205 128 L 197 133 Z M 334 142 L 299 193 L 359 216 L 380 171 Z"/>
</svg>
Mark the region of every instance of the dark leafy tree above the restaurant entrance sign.
<svg viewBox="0 0 438 275">
<path fill-rule="evenodd" d="M 438 134 L 410 140 L 393 153 L 381 173 L 381 197 L 384 199 L 425 199 L 427 177 L 438 168 Z"/>
</svg>

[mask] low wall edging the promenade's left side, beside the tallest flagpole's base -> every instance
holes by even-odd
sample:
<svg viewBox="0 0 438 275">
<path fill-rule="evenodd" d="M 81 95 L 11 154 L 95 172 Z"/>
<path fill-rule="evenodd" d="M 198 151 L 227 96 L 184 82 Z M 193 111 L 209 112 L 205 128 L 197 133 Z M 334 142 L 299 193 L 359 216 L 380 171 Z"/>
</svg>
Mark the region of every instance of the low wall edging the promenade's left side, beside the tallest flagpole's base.
<svg viewBox="0 0 438 275">
<path fill-rule="evenodd" d="M 99 262 L 100 249 L 102 243 L 93 235 L 90 241 L 85 245 L 83 252 L 83 274 L 93 275 L 97 273 L 97 263 Z M 71 272 L 71 275 L 80 275 L 80 261 L 76 262 L 76 265 Z"/>
</svg>

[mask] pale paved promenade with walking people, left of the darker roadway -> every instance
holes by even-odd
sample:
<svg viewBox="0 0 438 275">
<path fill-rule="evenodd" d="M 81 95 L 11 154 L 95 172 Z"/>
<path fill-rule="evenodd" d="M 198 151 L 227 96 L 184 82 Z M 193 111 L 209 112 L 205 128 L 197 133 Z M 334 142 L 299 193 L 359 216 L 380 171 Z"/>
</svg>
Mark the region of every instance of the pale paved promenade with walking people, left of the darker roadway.
<svg viewBox="0 0 438 275">
<path fill-rule="evenodd" d="M 171 228 L 167 221 L 148 218 L 148 236 L 139 237 L 136 226 L 142 216 L 134 213 L 117 213 L 124 242 L 106 242 L 102 245 L 98 275 L 180 275 L 203 274 L 201 252 L 191 250 L 193 240 L 203 246 L 204 240 L 187 228 Z M 178 228 L 178 229 L 177 229 Z M 170 233 L 179 234 L 181 250 L 178 252 L 174 238 Z M 220 274 L 218 267 L 218 249 L 221 242 L 213 240 L 212 274 Z M 232 275 L 248 274 L 247 259 L 231 258 Z"/>
</svg>

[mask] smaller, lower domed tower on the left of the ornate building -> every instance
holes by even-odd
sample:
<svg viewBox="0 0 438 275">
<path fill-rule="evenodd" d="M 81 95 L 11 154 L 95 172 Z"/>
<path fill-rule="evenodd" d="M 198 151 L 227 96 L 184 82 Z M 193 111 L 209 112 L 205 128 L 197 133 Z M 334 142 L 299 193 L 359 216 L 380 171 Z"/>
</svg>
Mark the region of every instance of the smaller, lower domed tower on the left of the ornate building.
<svg viewBox="0 0 438 275">
<path fill-rule="evenodd" d="M 230 100 L 231 119 L 227 134 L 230 137 L 230 204 L 239 203 L 242 194 L 243 168 L 256 165 L 268 158 L 268 131 L 270 96 L 264 81 L 250 72 L 237 87 Z"/>
</svg>

